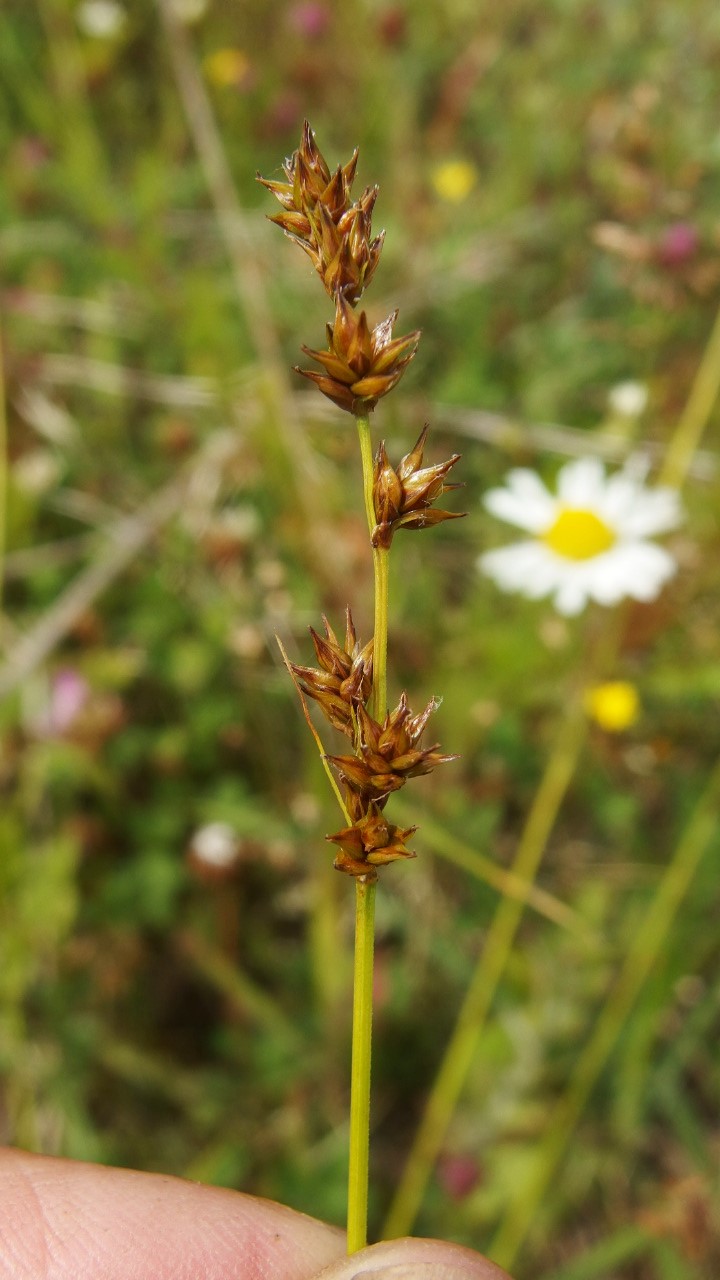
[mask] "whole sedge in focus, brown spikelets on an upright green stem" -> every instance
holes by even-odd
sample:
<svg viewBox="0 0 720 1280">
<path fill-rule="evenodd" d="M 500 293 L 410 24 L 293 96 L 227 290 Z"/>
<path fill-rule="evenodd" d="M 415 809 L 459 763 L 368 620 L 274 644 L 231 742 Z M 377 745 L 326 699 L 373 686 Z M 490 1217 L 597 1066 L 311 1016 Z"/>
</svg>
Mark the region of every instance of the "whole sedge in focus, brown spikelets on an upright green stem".
<svg viewBox="0 0 720 1280">
<path fill-rule="evenodd" d="M 301 666 L 284 655 L 307 722 L 319 745 L 325 772 L 337 797 L 342 827 L 327 840 L 337 847 L 334 867 L 355 881 L 356 924 L 352 1000 L 352 1061 L 350 1089 L 350 1157 L 347 1252 L 368 1238 L 370 1048 L 373 1021 L 373 938 L 378 872 L 389 863 L 415 856 L 407 841 L 418 829 L 400 827 L 387 815 L 389 797 L 415 777 L 454 759 L 439 744 L 421 745 L 438 699 L 415 713 L 405 692 L 388 703 L 388 566 L 398 530 L 429 529 L 459 512 L 436 506 L 459 488 L 447 483 L 457 462 L 424 466 L 428 428 L 397 466 L 384 442 L 373 449 L 370 415 L 378 401 L 402 378 L 415 357 L 420 333 L 393 338 L 397 311 L 372 325 L 360 298 L 372 283 L 384 233 L 373 236 L 377 187 L 352 197 L 357 151 L 332 172 L 307 122 L 300 146 L 283 164 L 284 180 L 261 178 L 282 211 L 270 220 L 307 255 L 328 293 L 333 317 L 324 348 L 302 347 L 318 369 L 296 371 L 315 384 L 340 410 L 355 419 L 363 472 L 363 502 L 368 520 L 374 571 L 373 636 L 360 641 L 347 605 L 345 632 L 327 618 L 323 630 L 310 628 L 316 666 Z M 340 751 L 327 751 L 307 714 L 306 699 L 320 708 L 333 731 L 345 737 Z"/>
</svg>

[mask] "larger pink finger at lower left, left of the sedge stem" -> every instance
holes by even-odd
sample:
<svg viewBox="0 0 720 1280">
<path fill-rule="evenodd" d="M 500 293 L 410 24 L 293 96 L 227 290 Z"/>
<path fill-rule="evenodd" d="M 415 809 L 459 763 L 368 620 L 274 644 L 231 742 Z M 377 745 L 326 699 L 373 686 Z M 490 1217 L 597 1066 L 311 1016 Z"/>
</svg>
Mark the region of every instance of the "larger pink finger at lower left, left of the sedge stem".
<svg viewBox="0 0 720 1280">
<path fill-rule="evenodd" d="M 309 1280 L 343 1253 L 270 1201 L 0 1149 L 0 1280 Z"/>
</svg>

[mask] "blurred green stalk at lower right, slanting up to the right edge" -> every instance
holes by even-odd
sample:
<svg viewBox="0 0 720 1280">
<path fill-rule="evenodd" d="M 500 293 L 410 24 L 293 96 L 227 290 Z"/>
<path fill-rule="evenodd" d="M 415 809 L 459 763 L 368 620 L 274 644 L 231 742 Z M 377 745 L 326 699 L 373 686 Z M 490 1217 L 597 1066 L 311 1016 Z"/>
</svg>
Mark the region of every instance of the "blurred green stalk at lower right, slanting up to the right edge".
<svg viewBox="0 0 720 1280">
<path fill-rule="evenodd" d="M 538 1153 L 538 1167 L 509 1208 L 492 1245 L 500 1266 L 512 1266 L 528 1235 L 548 1183 L 568 1148 L 583 1107 L 618 1043 L 628 1015 L 655 970 L 670 929 L 707 847 L 717 832 L 720 760 L 696 805 L 644 918 L 634 934 L 611 995 L 580 1053 L 568 1091 L 552 1112 Z"/>
</svg>

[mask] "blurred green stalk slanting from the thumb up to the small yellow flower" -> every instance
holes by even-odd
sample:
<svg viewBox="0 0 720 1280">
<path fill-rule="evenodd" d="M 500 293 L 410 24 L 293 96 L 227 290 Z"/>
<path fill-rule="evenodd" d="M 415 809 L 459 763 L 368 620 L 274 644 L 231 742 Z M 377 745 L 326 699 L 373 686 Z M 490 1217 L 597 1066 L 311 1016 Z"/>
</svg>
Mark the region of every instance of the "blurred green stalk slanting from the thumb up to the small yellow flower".
<svg viewBox="0 0 720 1280">
<path fill-rule="evenodd" d="M 560 727 L 511 867 L 511 874 L 528 887 L 536 879 L 547 838 L 575 772 L 585 726 L 582 695 L 577 694 Z M 413 1229 L 524 908 L 525 901 L 516 897 L 503 897 L 498 904 L 384 1224 L 383 1235 L 387 1239 L 407 1235 Z"/>
</svg>

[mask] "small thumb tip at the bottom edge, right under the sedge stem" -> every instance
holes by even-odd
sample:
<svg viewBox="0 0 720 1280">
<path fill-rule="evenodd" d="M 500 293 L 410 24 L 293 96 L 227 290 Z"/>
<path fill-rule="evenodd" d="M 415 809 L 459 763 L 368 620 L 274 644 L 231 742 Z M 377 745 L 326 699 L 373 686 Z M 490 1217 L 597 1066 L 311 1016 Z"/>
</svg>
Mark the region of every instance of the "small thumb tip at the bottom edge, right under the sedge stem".
<svg viewBox="0 0 720 1280">
<path fill-rule="evenodd" d="M 473 1249 L 443 1240 L 384 1240 L 333 1262 L 314 1280 L 511 1280 Z"/>
</svg>

